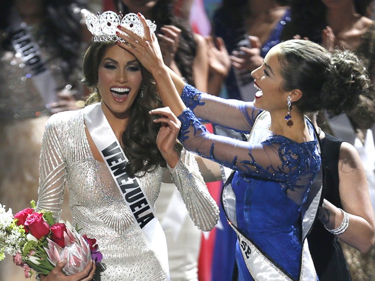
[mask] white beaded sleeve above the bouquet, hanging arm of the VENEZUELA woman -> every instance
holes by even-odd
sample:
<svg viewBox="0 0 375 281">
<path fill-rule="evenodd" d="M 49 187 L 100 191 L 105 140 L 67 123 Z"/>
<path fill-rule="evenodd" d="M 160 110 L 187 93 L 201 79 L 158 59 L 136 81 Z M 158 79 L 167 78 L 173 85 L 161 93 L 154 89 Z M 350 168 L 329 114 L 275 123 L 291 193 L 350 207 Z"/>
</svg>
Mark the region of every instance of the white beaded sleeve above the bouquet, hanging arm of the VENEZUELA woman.
<svg viewBox="0 0 375 281">
<path fill-rule="evenodd" d="M 58 128 L 52 116 L 45 128 L 39 162 L 39 189 L 37 209 L 51 211 L 60 218 L 65 187 L 65 161 L 58 138 Z"/>
</svg>

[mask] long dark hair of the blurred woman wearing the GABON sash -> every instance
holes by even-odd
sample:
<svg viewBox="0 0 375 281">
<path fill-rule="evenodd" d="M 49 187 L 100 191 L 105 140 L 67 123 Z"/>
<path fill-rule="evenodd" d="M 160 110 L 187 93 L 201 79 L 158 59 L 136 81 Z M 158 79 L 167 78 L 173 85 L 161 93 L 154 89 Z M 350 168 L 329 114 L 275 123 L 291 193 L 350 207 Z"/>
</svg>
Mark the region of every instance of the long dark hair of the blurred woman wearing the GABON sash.
<svg viewBox="0 0 375 281">
<path fill-rule="evenodd" d="M 44 0 L 45 21 L 40 32 L 45 37 L 46 46 L 52 46 L 62 59 L 59 65 L 65 78 L 71 75 L 79 61 L 82 29 L 80 9 L 86 7 L 87 0 Z M 5 31 L 10 24 L 10 11 L 14 0 L 0 1 L 0 30 Z M 9 34 L 10 36 L 10 34 Z M 1 48 L 11 49 L 10 37 L 1 42 Z"/>
</svg>

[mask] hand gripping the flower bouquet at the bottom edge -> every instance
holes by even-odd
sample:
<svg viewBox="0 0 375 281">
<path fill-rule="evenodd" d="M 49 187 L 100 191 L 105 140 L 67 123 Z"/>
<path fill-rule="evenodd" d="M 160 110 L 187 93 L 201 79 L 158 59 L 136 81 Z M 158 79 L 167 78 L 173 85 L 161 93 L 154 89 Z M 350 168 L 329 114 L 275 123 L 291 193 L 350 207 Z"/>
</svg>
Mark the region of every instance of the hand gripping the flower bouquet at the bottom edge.
<svg viewBox="0 0 375 281">
<path fill-rule="evenodd" d="M 93 260 L 90 260 L 88 265 L 85 267 L 84 270 L 81 272 L 66 276 L 64 273 L 62 273 L 62 269 L 66 265 L 67 260 L 60 261 L 55 268 L 46 276 L 40 275 L 41 281 L 90 281 L 94 278 L 95 274 L 95 262 Z"/>
</svg>

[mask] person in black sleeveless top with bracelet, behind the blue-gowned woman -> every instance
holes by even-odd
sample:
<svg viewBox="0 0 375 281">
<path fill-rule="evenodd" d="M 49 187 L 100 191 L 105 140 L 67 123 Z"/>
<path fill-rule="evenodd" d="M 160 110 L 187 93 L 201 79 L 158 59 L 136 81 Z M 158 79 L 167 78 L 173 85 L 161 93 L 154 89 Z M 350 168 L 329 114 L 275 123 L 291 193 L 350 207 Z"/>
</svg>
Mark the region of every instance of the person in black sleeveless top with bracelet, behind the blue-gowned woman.
<svg viewBox="0 0 375 281">
<path fill-rule="evenodd" d="M 366 172 L 353 145 L 322 131 L 311 114 L 321 140 L 325 168 L 324 201 L 307 237 L 308 246 L 320 281 L 350 281 L 351 275 L 339 241 L 362 253 L 375 241 L 374 212 Z M 332 231 L 329 217 L 346 213 L 340 231 Z M 344 216 L 344 217 L 345 217 Z M 346 229 L 345 229 L 346 227 Z"/>
</svg>

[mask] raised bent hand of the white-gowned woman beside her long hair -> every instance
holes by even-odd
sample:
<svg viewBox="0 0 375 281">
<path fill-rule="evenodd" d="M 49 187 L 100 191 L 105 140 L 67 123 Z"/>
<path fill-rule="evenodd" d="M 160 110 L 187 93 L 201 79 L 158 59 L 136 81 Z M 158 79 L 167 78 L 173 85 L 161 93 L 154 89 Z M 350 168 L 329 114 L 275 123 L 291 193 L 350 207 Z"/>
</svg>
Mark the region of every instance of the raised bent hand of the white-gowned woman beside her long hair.
<svg viewBox="0 0 375 281">
<path fill-rule="evenodd" d="M 175 150 L 175 144 L 180 132 L 181 121 L 168 106 L 150 110 L 150 114 L 160 116 L 153 120 L 155 123 L 161 123 L 159 133 L 156 137 L 157 148 L 160 150 L 165 161 L 167 161 L 169 167 L 174 168 L 180 159 Z"/>
</svg>

